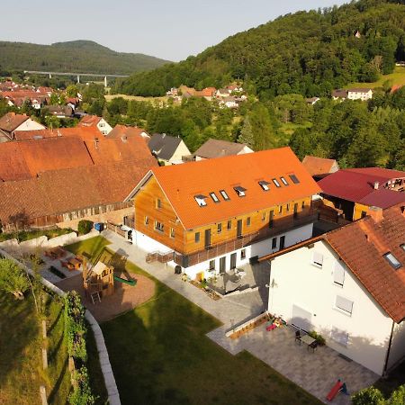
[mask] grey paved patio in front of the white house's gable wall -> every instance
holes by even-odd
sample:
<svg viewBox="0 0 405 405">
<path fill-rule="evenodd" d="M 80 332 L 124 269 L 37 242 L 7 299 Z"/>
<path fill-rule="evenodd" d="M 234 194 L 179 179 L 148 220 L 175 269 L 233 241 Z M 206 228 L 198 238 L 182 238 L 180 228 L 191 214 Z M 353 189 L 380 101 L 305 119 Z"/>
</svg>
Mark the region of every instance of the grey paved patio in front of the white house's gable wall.
<svg viewBox="0 0 405 405">
<path fill-rule="evenodd" d="M 268 332 L 265 324 L 235 340 L 225 338 L 223 333 L 218 333 L 219 329 L 208 336 L 234 355 L 247 350 L 325 403 L 329 403 L 326 396 L 338 378 L 347 383 L 350 394 L 379 378 L 362 365 L 342 358 L 329 347 L 317 347 L 314 352 L 311 348 L 308 350 L 306 344 L 295 341 L 295 330 L 284 326 Z M 350 397 L 339 393 L 333 403 L 347 405 Z"/>
</svg>

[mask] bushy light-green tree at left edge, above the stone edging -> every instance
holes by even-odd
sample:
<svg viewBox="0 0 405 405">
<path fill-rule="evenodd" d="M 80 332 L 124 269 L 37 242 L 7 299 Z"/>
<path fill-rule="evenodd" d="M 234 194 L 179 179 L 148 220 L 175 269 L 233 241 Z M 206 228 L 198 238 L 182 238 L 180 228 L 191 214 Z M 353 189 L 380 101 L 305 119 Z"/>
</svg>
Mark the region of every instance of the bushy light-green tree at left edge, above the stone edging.
<svg viewBox="0 0 405 405">
<path fill-rule="evenodd" d="M 0 290 L 12 293 L 15 298 L 23 300 L 28 290 L 27 275 L 13 260 L 0 258 Z"/>
</svg>

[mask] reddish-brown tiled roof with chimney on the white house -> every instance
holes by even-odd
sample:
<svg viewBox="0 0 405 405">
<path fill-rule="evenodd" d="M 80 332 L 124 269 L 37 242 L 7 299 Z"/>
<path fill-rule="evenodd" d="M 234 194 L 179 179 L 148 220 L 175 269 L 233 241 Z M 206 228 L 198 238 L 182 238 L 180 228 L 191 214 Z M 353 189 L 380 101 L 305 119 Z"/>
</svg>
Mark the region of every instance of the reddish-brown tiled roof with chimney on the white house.
<svg viewBox="0 0 405 405">
<path fill-rule="evenodd" d="M 371 293 L 399 323 L 405 319 L 405 211 L 403 202 L 383 211 L 383 220 L 367 216 L 326 234 L 326 240 Z M 391 252 L 401 267 L 383 257 Z"/>
</svg>

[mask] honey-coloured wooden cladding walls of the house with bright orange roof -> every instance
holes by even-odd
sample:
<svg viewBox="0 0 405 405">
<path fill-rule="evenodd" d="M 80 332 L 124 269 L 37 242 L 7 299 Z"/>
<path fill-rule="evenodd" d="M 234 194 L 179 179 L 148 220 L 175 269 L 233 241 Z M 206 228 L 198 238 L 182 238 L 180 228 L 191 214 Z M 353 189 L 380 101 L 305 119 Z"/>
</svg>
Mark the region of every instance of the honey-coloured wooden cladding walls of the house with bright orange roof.
<svg viewBox="0 0 405 405">
<path fill-rule="evenodd" d="M 314 221 L 311 196 L 308 196 L 260 211 L 224 218 L 199 228 L 184 229 L 153 175 L 143 184 L 141 193 L 135 195 L 134 202 L 134 228 L 172 248 L 176 252 L 175 256 L 195 256 L 202 252 L 202 256 L 206 257 L 207 251 L 211 250 L 212 255 L 214 254 L 215 247 L 221 247 L 221 252 L 229 252 L 239 248 L 241 244 L 241 247 L 247 246 L 260 239 L 270 238 L 277 232 Z M 200 210 L 204 210 L 204 207 L 200 207 Z M 209 254 L 208 258 L 212 255 Z M 192 263 L 188 265 L 191 266 Z"/>
</svg>

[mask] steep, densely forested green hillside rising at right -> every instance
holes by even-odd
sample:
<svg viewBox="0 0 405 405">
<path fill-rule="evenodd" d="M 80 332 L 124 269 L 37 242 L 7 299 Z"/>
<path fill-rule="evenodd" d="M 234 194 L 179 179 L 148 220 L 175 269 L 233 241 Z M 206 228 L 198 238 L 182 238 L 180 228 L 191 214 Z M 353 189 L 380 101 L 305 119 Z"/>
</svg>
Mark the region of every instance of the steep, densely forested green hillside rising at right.
<svg viewBox="0 0 405 405">
<path fill-rule="evenodd" d="M 395 3 L 360 0 L 287 14 L 196 57 L 120 80 L 115 91 L 162 95 L 181 84 L 201 89 L 239 80 L 266 99 L 323 95 L 350 82 L 373 82 L 392 73 L 395 60 L 405 59 L 405 5 Z"/>
</svg>

